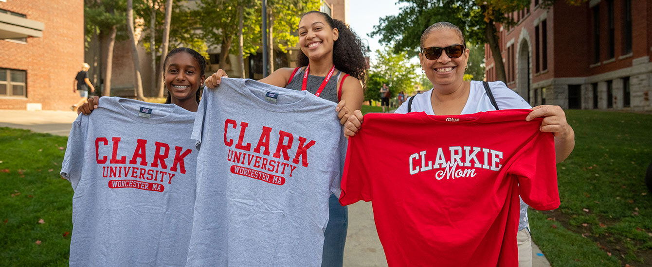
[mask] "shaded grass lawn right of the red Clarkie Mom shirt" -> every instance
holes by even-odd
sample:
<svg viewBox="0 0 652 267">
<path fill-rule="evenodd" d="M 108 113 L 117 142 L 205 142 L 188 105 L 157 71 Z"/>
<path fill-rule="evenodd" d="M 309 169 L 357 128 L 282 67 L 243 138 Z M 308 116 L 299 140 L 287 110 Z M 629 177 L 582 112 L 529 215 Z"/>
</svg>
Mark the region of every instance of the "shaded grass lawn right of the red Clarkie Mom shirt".
<svg viewBox="0 0 652 267">
<path fill-rule="evenodd" d="M 652 115 L 567 111 L 576 145 L 557 164 L 561 206 L 530 210 L 532 236 L 553 266 L 652 266 Z"/>
</svg>

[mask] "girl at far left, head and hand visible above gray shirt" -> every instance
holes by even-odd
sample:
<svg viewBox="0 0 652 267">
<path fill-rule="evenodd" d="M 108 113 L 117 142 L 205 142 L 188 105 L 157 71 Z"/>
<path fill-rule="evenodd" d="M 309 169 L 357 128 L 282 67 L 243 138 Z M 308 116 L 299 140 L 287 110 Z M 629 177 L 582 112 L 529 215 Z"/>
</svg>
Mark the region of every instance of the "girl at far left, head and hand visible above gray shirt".
<svg viewBox="0 0 652 267">
<path fill-rule="evenodd" d="M 175 104 L 188 111 L 197 111 L 200 87 L 205 79 L 206 61 L 200 53 L 190 48 L 175 48 L 165 57 L 163 78 L 168 90 L 166 104 Z M 77 113 L 89 115 L 97 108 L 99 98 L 93 96 L 79 107 Z"/>
</svg>

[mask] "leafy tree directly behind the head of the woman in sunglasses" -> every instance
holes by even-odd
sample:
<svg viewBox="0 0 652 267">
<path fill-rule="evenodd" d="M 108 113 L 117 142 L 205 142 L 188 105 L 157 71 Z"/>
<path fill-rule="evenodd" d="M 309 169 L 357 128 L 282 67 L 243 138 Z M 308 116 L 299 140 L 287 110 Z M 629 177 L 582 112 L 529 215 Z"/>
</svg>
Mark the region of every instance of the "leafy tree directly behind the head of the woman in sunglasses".
<svg viewBox="0 0 652 267">
<path fill-rule="evenodd" d="M 423 31 L 438 21 L 449 21 L 462 29 L 473 44 L 488 43 L 496 66 L 496 77 L 505 81 L 505 66 L 498 44 L 496 25 L 515 22 L 506 14 L 529 6 L 530 0 L 454 1 L 400 0 L 406 3 L 400 14 L 381 18 L 371 36 L 381 36 L 381 44 L 393 44 L 394 51 L 419 52 Z"/>
</svg>

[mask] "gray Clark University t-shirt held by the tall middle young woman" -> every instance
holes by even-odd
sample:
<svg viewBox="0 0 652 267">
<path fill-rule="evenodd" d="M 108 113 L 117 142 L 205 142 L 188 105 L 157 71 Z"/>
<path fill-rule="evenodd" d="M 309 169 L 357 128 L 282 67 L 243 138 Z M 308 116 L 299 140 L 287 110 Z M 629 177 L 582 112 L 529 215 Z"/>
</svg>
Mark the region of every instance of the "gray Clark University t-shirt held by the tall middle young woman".
<svg viewBox="0 0 652 267">
<path fill-rule="evenodd" d="M 319 266 L 346 139 L 336 104 L 222 78 L 205 89 L 188 266 Z"/>
</svg>

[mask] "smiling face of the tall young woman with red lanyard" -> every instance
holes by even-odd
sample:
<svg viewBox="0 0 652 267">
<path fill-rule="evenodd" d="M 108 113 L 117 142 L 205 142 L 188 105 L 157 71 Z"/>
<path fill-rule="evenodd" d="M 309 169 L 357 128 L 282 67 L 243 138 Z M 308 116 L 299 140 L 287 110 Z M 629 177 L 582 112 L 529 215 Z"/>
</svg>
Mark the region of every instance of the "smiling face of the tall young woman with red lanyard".
<svg viewBox="0 0 652 267">
<path fill-rule="evenodd" d="M 333 44 L 339 36 L 318 13 L 306 14 L 299 21 L 299 47 L 310 60 L 333 56 Z"/>
</svg>

